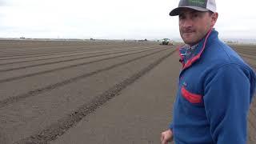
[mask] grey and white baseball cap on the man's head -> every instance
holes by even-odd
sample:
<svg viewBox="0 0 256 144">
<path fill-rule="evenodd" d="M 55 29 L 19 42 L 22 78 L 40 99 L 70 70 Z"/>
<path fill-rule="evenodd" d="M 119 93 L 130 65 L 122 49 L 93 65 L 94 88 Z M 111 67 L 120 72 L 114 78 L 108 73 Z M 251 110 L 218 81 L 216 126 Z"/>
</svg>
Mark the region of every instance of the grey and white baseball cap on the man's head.
<svg viewBox="0 0 256 144">
<path fill-rule="evenodd" d="M 216 12 L 215 0 L 180 0 L 178 7 L 170 11 L 170 16 L 178 15 L 182 8 L 190 8 L 198 11 Z"/>
</svg>

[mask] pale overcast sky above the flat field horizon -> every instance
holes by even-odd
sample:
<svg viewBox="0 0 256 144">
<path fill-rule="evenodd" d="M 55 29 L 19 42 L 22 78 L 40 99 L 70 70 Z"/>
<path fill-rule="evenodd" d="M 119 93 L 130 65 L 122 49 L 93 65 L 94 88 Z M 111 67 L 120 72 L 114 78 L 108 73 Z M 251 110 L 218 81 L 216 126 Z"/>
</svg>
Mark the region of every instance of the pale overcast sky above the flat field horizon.
<svg viewBox="0 0 256 144">
<path fill-rule="evenodd" d="M 255 0 L 216 0 L 220 38 L 256 39 Z M 0 0 L 0 38 L 180 38 L 178 0 Z"/>
</svg>

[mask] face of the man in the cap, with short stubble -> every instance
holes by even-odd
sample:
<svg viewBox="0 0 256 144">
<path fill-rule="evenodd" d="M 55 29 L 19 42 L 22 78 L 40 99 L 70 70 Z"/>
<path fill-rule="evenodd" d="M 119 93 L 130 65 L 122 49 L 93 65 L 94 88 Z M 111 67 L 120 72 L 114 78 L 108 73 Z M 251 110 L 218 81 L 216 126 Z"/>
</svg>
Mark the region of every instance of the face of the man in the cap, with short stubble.
<svg viewBox="0 0 256 144">
<path fill-rule="evenodd" d="M 178 18 L 179 31 L 183 41 L 193 46 L 204 38 L 211 26 L 214 26 L 218 14 L 216 17 L 215 13 L 210 14 L 209 12 L 184 8 Z"/>
</svg>

